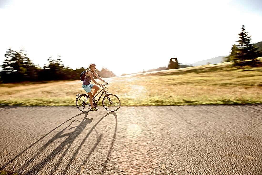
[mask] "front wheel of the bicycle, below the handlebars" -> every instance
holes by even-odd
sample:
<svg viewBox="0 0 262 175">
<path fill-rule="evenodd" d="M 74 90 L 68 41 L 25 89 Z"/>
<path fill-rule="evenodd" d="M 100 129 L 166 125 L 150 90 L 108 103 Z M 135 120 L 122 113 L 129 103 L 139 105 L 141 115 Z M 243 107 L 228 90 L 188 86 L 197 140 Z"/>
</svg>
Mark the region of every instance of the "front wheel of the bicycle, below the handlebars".
<svg viewBox="0 0 262 175">
<path fill-rule="evenodd" d="M 108 94 L 107 96 L 108 98 L 106 96 L 104 96 L 103 98 L 103 101 L 102 101 L 103 106 L 108 111 L 111 111 L 111 112 L 117 111 L 120 107 L 119 98 L 113 94 Z"/>
</svg>

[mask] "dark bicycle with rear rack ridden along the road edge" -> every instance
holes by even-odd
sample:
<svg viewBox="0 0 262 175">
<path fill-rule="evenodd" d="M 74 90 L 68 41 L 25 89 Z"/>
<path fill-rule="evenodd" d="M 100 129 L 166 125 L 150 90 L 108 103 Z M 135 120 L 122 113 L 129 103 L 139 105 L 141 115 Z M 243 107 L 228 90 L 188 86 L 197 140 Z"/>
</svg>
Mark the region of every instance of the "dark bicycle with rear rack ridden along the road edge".
<svg viewBox="0 0 262 175">
<path fill-rule="evenodd" d="M 105 86 L 106 86 L 106 89 L 104 88 Z M 105 96 L 102 100 L 103 107 L 105 107 L 105 109 L 108 110 L 108 111 L 114 112 L 114 111 L 117 111 L 119 109 L 119 107 L 121 105 L 120 100 L 116 95 L 108 93 L 108 91 L 107 91 L 108 87 L 107 86 L 108 86 L 108 84 L 102 84 L 101 87 L 103 89 L 100 92 L 98 92 L 96 94 L 96 96 L 98 96 L 102 91 L 103 92 L 96 102 L 93 99 L 93 106 L 97 107 L 97 103 L 99 102 L 102 95 L 105 93 Z M 91 105 L 89 103 L 90 97 L 89 97 L 89 95 L 86 95 L 86 94 L 78 94 L 77 99 L 76 99 L 77 108 L 82 112 L 89 112 L 91 110 Z M 82 107 L 83 107 L 83 109 L 82 109 Z"/>
</svg>

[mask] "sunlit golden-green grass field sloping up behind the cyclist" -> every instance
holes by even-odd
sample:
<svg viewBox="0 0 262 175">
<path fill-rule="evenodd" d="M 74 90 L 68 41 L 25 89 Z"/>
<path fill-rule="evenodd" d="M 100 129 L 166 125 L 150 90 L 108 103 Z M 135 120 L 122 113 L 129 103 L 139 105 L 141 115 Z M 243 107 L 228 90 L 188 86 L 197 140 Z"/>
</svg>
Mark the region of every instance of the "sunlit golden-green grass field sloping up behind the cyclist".
<svg viewBox="0 0 262 175">
<path fill-rule="evenodd" d="M 243 71 L 230 64 L 104 80 L 110 83 L 108 92 L 117 95 L 122 106 L 262 104 L 262 68 Z M 0 84 L 0 92 L 1 106 L 75 106 L 76 95 L 85 93 L 81 80 Z"/>
</svg>

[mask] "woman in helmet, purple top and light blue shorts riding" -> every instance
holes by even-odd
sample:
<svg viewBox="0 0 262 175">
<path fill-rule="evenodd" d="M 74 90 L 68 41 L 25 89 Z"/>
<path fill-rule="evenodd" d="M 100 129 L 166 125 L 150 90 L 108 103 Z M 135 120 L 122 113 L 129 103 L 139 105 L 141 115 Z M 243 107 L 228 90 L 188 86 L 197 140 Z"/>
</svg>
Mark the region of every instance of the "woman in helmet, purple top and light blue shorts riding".
<svg viewBox="0 0 262 175">
<path fill-rule="evenodd" d="M 96 92 L 99 90 L 100 84 L 95 81 L 94 75 L 96 76 L 97 79 L 103 81 L 104 83 L 107 83 L 107 82 L 105 82 L 100 76 L 97 75 L 97 73 L 95 72 L 95 70 L 96 70 L 96 65 L 95 65 L 95 64 L 89 64 L 89 68 L 86 69 L 85 80 L 83 81 L 83 85 L 82 85 L 82 88 L 83 88 L 83 89 L 86 91 L 86 93 L 89 95 L 89 102 L 90 102 L 90 105 L 91 105 L 91 111 L 97 111 L 97 110 L 98 110 L 98 108 L 95 108 L 95 107 L 93 106 L 93 100 L 92 100 L 92 99 L 93 99 L 93 97 L 95 96 Z M 91 80 L 92 80 L 95 84 L 97 84 L 97 85 L 99 85 L 99 86 L 94 85 L 94 84 L 91 84 L 91 83 L 90 83 Z M 93 94 L 92 94 L 91 89 L 94 89 Z M 96 99 L 94 98 L 94 100 L 96 100 Z"/>
</svg>

